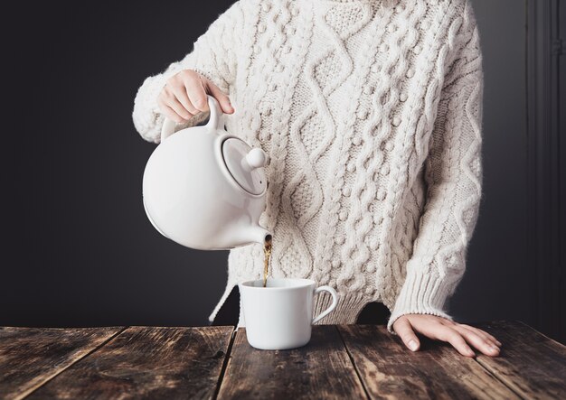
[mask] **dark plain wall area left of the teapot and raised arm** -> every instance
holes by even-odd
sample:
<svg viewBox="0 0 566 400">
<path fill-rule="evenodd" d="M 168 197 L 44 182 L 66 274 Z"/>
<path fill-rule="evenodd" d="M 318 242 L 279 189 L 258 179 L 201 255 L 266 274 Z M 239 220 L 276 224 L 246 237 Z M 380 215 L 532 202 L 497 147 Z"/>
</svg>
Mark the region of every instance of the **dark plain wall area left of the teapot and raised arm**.
<svg viewBox="0 0 566 400">
<path fill-rule="evenodd" d="M 141 179 L 155 144 L 131 111 L 143 79 L 230 4 L 14 10 L 30 31 L 8 36 L 3 65 L 0 325 L 206 323 L 228 253 L 180 247 L 151 226 Z"/>
</svg>

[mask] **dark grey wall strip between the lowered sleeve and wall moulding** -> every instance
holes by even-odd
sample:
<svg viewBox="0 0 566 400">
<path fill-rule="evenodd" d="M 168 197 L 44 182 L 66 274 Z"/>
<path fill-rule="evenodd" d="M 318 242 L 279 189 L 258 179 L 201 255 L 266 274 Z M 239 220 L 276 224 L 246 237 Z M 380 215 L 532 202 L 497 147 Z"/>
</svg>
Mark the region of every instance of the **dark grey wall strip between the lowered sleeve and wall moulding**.
<svg viewBox="0 0 566 400">
<path fill-rule="evenodd" d="M 535 321 L 527 264 L 525 6 L 474 0 L 484 54 L 484 198 L 467 272 L 450 301 L 460 319 Z"/>
</svg>

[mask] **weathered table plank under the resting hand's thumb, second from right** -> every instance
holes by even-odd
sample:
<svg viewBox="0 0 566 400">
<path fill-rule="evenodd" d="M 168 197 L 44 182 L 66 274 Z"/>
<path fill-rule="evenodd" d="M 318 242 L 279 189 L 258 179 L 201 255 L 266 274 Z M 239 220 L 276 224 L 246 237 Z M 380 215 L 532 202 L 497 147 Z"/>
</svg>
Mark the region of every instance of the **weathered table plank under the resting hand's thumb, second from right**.
<svg viewBox="0 0 566 400">
<path fill-rule="evenodd" d="M 384 326 L 338 327 L 371 398 L 518 398 L 447 343 L 421 339 L 412 352 Z"/>
</svg>

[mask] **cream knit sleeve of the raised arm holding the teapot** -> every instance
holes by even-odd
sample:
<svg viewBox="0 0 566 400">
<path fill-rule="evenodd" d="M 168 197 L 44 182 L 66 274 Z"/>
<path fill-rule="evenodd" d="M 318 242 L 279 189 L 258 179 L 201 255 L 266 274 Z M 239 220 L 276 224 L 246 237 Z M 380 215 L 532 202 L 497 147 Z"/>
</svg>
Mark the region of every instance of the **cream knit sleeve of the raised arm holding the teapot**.
<svg viewBox="0 0 566 400">
<path fill-rule="evenodd" d="M 137 132 L 148 142 L 159 143 L 165 117 L 157 106 L 157 96 L 166 80 L 181 70 L 195 70 L 210 79 L 224 93 L 229 92 L 236 76 L 238 42 L 241 39 L 243 13 L 241 1 L 231 5 L 211 23 L 193 43 L 193 51 L 170 64 L 165 71 L 150 76 L 138 88 L 132 118 Z"/>
</svg>

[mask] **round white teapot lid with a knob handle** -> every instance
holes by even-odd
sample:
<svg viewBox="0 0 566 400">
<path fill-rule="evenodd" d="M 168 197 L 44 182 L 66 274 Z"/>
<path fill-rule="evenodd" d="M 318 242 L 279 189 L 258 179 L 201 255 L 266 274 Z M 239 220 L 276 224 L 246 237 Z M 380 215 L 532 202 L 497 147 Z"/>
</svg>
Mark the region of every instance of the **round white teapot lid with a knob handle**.
<svg viewBox="0 0 566 400">
<path fill-rule="evenodd" d="M 263 170 L 265 160 L 254 155 L 254 152 L 263 153 L 259 148 L 252 149 L 243 140 L 230 137 L 222 143 L 222 158 L 228 171 L 244 191 L 251 194 L 261 194 L 267 187 L 265 172 Z M 251 156 L 251 157 L 250 157 Z M 248 161 L 251 160 L 251 163 Z"/>
</svg>

